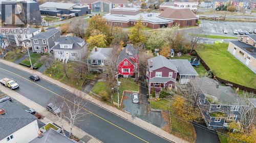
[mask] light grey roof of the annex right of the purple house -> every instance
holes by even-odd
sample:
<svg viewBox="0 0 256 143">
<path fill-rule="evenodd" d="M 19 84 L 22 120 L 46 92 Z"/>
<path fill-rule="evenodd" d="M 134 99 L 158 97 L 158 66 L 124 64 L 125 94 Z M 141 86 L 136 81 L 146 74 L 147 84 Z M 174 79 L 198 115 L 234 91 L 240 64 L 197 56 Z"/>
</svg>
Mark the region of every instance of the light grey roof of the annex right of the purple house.
<svg viewBox="0 0 256 143">
<path fill-rule="evenodd" d="M 170 60 L 170 63 L 173 63 L 178 67 L 178 72 L 180 75 L 198 75 L 197 71 L 193 68 L 188 60 L 174 59 Z"/>
</svg>

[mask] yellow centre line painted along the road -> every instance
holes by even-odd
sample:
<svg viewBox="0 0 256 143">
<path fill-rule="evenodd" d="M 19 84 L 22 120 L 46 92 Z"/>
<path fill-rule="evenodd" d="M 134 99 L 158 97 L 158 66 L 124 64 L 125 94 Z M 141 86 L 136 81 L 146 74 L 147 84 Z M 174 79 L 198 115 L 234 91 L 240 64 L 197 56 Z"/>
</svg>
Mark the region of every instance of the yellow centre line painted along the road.
<svg viewBox="0 0 256 143">
<path fill-rule="evenodd" d="M 31 80 L 29 80 L 29 79 L 27 79 L 27 78 L 25 78 L 25 77 L 22 77 L 22 76 L 20 76 L 20 75 L 18 75 L 18 74 L 16 74 L 16 73 L 13 73 L 13 72 L 8 71 L 8 70 L 3 69 L 3 68 L 0 68 L 0 69 L 5 70 L 5 71 L 7 71 L 7 72 L 10 72 L 10 73 L 12 73 L 12 74 L 14 74 L 14 75 L 17 75 L 17 76 L 19 76 L 19 77 L 21 77 L 21 78 L 24 78 L 24 79 L 26 79 L 26 80 L 32 82 Z M 51 91 L 51 90 L 49 90 L 49 89 L 47 89 L 47 88 L 45 88 L 45 87 L 42 87 L 41 85 L 39 85 L 39 84 L 37 84 L 37 83 L 35 83 L 35 82 L 32 82 L 32 83 L 34 83 L 34 84 L 38 85 L 39 87 L 41 87 L 41 88 L 43 88 L 43 89 L 45 89 L 45 90 L 47 90 L 47 91 L 49 91 L 49 92 L 52 92 L 53 94 L 55 94 L 55 95 L 57 95 L 57 96 L 63 98 L 62 96 L 58 95 L 57 93 L 55 93 L 55 92 L 53 92 L 53 91 Z M 66 100 L 67 100 L 67 99 L 66 99 Z M 77 104 L 75 104 L 74 102 L 72 102 L 72 101 L 70 101 L 70 100 L 68 100 L 68 101 L 71 102 L 71 103 L 73 103 L 74 105 L 77 105 Z M 81 107 L 81 108 L 84 109 L 84 110 L 86 110 L 86 111 L 88 111 L 88 112 L 90 112 L 92 115 L 94 115 L 94 116 L 96 116 L 96 117 L 102 119 L 103 121 L 108 122 L 109 124 L 111 124 L 111 125 L 113 125 L 113 126 L 119 128 L 119 129 L 121 129 L 121 130 L 123 130 L 123 131 L 125 131 L 125 132 L 127 132 L 127 133 L 129 133 L 129 134 L 131 134 L 131 135 L 133 135 L 133 136 L 135 136 L 135 137 L 137 137 L 137 138 L 139 138 L 140 140 L 142 140 L 142 141 L 144 141 L 144 142 L 148 142 L 148 141 L 146 141 L 146 140 L 144 140 L 144 139 L 138 137 L 137 135 L 135 135 L 135 134 L 133 134 L 133 133 L 131 133 L 131 132 L 129 132 L 129 131 L 127 131 L 127 130 L 121 128 L 121 127 L 119 127 L 119 126 L 117 126 L 117 125 L 115 125 L 114 123 L 112 123 L 112 122 L 110 122 L 110 121 L 108 121 L 108 120 L 106 120 L 106 119 L 104 119 L 104 118 L 102 118 L 102 117 L 96 115 L 95 113 L 89 111 L 88 109 L 86 109 L 86 108 L 84 108 L 84 107 Z M 148 143 L 149 143 L 149 142 L 148 142 Z"/>
</svg>

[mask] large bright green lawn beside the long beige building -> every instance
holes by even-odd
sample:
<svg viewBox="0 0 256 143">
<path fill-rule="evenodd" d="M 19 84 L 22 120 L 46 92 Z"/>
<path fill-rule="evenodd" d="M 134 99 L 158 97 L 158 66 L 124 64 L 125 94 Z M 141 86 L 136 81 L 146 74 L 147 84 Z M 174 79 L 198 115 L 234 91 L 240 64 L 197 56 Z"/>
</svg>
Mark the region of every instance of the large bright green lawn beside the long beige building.
<svg viewBox="0 0 256 143">
<path fill-rule="evenodd" d="M 256 74 L 227 51 L 228 44 L 204 44 L 196 50 L 214 73 L 225 80 L 256 88 Z"/>
</svg>

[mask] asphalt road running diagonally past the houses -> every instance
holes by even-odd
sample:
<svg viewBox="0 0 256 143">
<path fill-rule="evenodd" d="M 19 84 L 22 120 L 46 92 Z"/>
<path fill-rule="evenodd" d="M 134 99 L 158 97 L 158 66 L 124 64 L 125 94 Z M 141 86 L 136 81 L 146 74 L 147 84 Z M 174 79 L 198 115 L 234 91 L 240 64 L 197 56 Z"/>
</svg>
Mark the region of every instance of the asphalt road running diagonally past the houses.
<svg viewBox="0 0 256 143">
<path fill-rule="evenodd" d="M 15 74 L 13 74 L 15 73 Z M 52 84 L 44 79 L 40 81 L 28 80 L 30 74 L 0 64 L 0 78 L 8 77 L 17 81 L 19 89 L 15 92 L 29 98 L 41 106 L 58 95 L 71 95 L 68 91 Z M 73 96 L 73 95 L 71 95 Z M 84 117 L 78 127 L 88 132 L 103 142 L 170 142 L 150 131 L 147 131 L 113 113 L 84 100 L 87 104 L 84 106 L 92 113 Z"/>
</svg>

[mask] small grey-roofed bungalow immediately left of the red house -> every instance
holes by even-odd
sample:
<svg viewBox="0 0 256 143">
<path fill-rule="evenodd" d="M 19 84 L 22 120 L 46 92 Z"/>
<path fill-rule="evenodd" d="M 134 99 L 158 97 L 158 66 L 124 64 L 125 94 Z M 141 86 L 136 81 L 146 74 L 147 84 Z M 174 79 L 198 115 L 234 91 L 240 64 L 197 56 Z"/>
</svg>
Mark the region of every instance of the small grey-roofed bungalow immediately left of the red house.
<svg viewBox="0 0 256 143">
<path fill-rule="evenodd" d="M 93 48 L 89 55 L 88 71 L 89 72 L 102 72 L 108 65 L 108 58 L 111 55 L 112 48 Z"/>
</svg>

